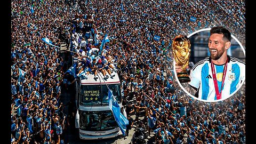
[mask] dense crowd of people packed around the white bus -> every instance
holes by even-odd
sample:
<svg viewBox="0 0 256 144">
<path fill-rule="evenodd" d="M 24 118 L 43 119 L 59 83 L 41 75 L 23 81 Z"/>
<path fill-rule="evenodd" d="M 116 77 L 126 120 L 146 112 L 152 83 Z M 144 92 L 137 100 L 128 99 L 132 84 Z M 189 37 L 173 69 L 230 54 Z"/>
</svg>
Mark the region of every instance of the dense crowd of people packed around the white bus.
<svg viewBox="0 0 256 144">
<path fill-rule="evenodd" d="M 117 63 L 111 70 L 122 81 L 127 117 L 135 115 L 133 125 L 143 117 L 156 143 L 245 143 L 244 86 L 220 102 L 195 100 L 177 84 L 171 51 L 175 36 L 216 25 L 229 28 L 244 46 L 244 5 L 235 0 L 12 1 L 12 143 L 66 143 L 62 133 L 70 122 L 60 95 L 67 63 L 55 47 L 61 42 L 73 55 L 86 57 L 85 65 L 98 54 Z M 100 51 L 106 34 L 109 42 Z M 55 46 L 42 41 L 45 37 Z"/>
</svg>

